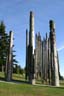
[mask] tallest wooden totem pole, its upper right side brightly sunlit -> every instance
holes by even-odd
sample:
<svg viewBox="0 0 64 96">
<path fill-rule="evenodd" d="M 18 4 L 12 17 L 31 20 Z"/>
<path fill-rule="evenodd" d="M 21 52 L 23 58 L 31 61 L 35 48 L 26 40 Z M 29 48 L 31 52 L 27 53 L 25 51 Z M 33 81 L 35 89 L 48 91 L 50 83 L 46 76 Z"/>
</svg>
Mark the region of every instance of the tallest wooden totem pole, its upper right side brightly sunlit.
<svg viewBox="0 0 64 96">
<path fill-rule="evenodd" d="M 29 46 L 28 46 L 28 70 L 29 70 L 29 82 L 35 83 L 34 79 L 34 14 L 30 12 L 30 24 L 29 24 Z"/>
</svg>

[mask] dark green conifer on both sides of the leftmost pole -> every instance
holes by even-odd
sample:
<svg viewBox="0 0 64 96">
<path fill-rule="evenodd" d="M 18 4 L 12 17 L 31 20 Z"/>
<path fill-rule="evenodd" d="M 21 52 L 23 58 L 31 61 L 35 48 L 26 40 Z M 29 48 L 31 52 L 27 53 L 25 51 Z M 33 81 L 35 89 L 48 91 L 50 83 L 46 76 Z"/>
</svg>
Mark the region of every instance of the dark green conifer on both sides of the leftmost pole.
<svg viewBox="0 0 64 96">
<path fill-rule="evenodd" d="M 0 22 L 0 66 L 6 65 L 6 59 L 8 55 L 8 49 L 9 49 L 9 40 L 10 37 L 5 31 L 5 24 L 3 21 Z M 14 46 L 13 46 L 14 47 Z M 12 63 L 18 63 L 18 61 L 15 59 L 14 52 L 12 51 Z"/>
</svg>

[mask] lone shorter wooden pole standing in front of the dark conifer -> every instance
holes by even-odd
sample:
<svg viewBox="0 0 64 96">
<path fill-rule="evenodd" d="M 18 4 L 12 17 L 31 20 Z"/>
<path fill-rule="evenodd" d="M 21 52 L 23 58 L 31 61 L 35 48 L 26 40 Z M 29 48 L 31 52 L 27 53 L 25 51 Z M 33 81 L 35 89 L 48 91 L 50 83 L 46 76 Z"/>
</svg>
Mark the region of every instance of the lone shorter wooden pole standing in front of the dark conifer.
<svg viewBox="0 0 64 96">
<path fill-rule="evenodd" d="M 10 81 L 12 79 L 12 48 L 13 48 L 13 32 L 10 31 L 10 40 L 9 40 L 9 49 L 8 49 L 8 56 L 7 56 L 7 74 L 6 80 Z"/>
</svg>

